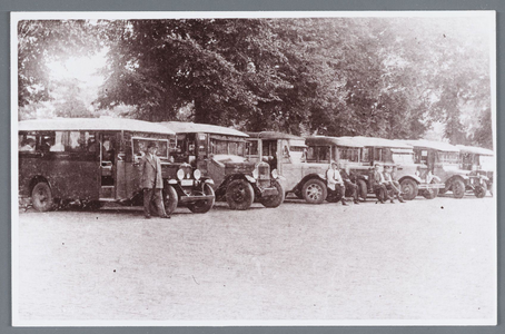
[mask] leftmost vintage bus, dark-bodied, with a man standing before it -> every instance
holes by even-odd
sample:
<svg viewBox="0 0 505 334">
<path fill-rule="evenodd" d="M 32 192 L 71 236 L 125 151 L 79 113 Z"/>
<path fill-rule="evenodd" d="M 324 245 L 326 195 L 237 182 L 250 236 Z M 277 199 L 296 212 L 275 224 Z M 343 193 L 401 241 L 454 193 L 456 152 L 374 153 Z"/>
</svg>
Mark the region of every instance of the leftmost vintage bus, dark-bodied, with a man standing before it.
<svg viewBox="0 0 505 334">
<path fill-rule="evenodd" d="M 168 214 L 178 204 L 195 213 L 214 205 L 212 183 L 170 151 L 176 134 L 158 124 L 123 118 L 23 120 L 19 127 L 19 196 L 47 212 L 65 203 L 142 205 L 139 159 L 149 143 L 158 147 Z"/>
</svg>

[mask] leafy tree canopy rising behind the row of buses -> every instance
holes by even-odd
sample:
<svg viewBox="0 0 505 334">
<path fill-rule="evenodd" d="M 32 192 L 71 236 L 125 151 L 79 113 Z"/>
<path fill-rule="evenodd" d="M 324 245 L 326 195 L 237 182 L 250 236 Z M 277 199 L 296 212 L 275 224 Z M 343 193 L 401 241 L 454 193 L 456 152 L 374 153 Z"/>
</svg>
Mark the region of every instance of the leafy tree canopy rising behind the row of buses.
<svg viewBox="0 0 505 334">
<path fill-rule="evenodd" d="M 489 147 L 483 26 L 457 18 L 22 21 L 19 106 L 50 99 L 42 58 L 107 48 L 97 110 L 130 106 L 129 117 L 154 121 L 385 138 L 422 138 L 437 121 L 450 143 Z M 68 106 L 82 108 L 69 99 L 59 110 Z"/>
</svg>

